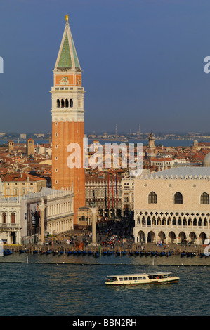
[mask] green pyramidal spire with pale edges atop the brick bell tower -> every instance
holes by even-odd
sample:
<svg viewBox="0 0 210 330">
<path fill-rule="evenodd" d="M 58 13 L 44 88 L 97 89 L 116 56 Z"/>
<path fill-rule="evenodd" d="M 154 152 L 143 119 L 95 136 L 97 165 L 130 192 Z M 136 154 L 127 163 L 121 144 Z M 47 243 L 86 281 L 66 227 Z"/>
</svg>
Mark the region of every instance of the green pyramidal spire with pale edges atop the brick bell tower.
<svg viewBox="0 0 210 330">
<path fill-rule="evenodd" d="M 81 70 L 70 25 L 66 22 L 63 39 L 60 44 L 55 70 Z"/>
</svg>

